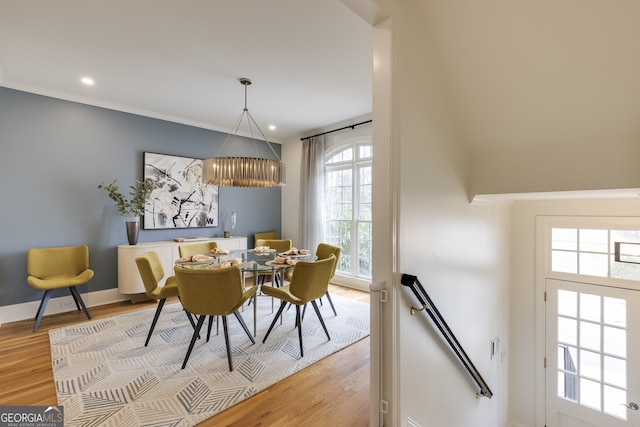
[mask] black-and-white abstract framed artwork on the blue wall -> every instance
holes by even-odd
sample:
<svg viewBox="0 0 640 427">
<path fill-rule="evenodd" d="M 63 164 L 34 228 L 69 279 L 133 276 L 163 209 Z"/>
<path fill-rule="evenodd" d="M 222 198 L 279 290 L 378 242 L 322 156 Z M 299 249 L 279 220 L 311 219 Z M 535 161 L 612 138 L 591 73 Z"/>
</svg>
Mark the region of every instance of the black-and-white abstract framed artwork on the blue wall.
<svg viewBox="0 0 640 427">
<path fill-rule="evenodd" d="M 202 183 L 202 159 L 145 152 L 144 180 L 156 187 L 145 229 L 218 226 L 218 187 Z"/>
</svg>

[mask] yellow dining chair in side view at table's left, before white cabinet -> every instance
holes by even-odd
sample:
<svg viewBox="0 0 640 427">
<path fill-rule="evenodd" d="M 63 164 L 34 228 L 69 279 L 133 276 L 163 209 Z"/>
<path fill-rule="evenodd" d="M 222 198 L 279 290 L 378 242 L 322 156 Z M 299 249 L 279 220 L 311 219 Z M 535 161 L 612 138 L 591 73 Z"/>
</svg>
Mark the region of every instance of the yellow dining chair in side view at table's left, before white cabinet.
<svg viewBox="0 0 640 427">
<path fill-rule="evenodd" d="M 149 344 L 149 340 L 151 339 L 151 334 L 156 327 L 156 323 L 158 323 L 158 318 L 160 317 L 160 312 L 162 312 L 162 307 L 164 307 L 165 301 L 167 298 L 180 298 L 180 296 L 175 276 L 167 277 L 164 286 L 160 286 L 160 281 L 164 278 L 164 268 L 162 268 L 162 262 L 156 252 L 145 252 L 144 254 L 137 256 L 136 265 L 138 266 L 140 278 L 144 284 L 147 296 L 158 302 L 158 308 L 156 308 L 156 314 L 153 316 L 151 328 L 149 328 L 149 333 L 147 334 L 147 340 L 144 342 L 144 346 L 146 347 Z M 187 317 L 189 318 L 191 325 L 195 327 L 195 322 L 188 312 Z"/>
</svg>

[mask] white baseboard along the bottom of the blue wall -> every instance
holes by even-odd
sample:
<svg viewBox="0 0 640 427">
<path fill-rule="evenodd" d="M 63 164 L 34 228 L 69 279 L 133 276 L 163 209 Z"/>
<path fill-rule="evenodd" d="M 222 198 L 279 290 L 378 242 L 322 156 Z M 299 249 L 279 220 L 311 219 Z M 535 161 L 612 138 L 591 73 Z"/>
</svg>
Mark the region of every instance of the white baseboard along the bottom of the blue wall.
<svg viewBox="0 0 640 427">
<path fill-rule="evenodd" d="M 131 295 L 124 295 L 118 292 L 117 288 L 105 289 L 103 291 L 89 292 L 81 294 L 82 300 L 87 307 L 111 304 L 119 301 L 131 299 Z M 38 311 L 40 301 L 30 301 L 21 304 L 5 305 L 0 307 L 0 327 L 3 323 L 18 322 L 20 320 L 33 319 Z M 51 298 L 47 304 L 44 315 L 65 313 L 76 309 L 71 294 L 63 297 Z"/>
</svg>

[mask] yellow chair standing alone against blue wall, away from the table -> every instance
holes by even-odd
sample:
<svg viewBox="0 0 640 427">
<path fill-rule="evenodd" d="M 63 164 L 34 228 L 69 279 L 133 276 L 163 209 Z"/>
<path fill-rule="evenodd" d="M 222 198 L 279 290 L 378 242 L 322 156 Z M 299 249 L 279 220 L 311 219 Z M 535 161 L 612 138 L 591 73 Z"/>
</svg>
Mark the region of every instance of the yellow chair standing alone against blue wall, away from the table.
<svg viewBox="0 0 640 427">
<path fill-rule="evenodd" d="M 84 285 L 92 277 L 93 270 L 89 269 L 89 247 L 86 245 L 29 249 L 27 251 L 27 283 L 44 291 L 36 313 L 33 332 L 38 330 L 54 289 L 69 288 L 78 310 L 82 307 L 84 314 L 91 319 L 77 286 Z"/>
</svg>

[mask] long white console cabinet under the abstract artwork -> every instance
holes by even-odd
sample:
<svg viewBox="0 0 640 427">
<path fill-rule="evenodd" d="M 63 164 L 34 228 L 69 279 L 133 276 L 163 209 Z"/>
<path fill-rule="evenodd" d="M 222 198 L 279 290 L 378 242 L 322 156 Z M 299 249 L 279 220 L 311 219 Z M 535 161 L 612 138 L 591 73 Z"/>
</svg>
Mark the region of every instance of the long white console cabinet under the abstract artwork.
<svg viewBox="0 0 640 427">
<path fill-rule="evenodd" d="M 206 241 L 217 242 L 218 247 L 222 249 L 247 249 L 246 237 L 229 237 L 229 238 L 212 238 Z M 137 245 L 118 245 L 118 292 L 121 294 L 144 294 L 144 284 L 140 279 L 138 266 L 136 265 L 136 257 L 145 252 L 154 251 L 162 261 L 165 278 L 173 275 L 173 264 L 180 257 L 178 254 L 178 246 L 194 243 L 202 243 L 203 241 L 174 242 L 165 240 L 161 242 L 138 243 Z M 133 298 L 132 298 L 133 300 Z"/>
</svg>

